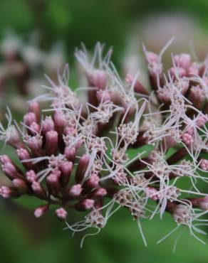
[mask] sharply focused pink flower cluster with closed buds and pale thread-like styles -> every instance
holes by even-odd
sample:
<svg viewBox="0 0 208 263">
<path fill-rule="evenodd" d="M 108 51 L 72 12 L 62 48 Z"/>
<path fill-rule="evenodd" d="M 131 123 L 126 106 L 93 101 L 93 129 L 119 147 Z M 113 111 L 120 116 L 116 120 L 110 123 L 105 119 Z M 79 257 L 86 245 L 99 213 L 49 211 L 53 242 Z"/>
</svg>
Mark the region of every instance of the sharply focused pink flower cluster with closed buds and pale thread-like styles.
<svg viewBox="0 0 208 263">
<path fill-rule="evenodd" d="M 1 155 L 2 171 L 11 180 L 11 186 L 1 186 L 1 196 L 39 198 L 37 218 L 56 206 L 56 216 L 73 232 L 99 232 L 125 208 L 145 244 L 140 220 L 165 212 L 175 230 L 186 225 L 198 239 L 208 210 L 208 195 L 198 184 L 208 180 L 208 60 L 172 55 L 166 71 L 162 55 L 169 45 L 159 55 L 144 46 L 149 89 L 139 73 L 121 80 L 110 61 L 112 50 L 103 55 L 98 43 L 93 57 L 85 48 L 76 50 L 86 87 L 68 87 L 66 65 L 58 84 L 48 78 L 49 92 L 29 102 L 23 122 L 13 124 L 8 110 L 0 139 L 14 146 L 22 167 Z M 41 112 L 43 101 L 50 107 Z M 73 209 L 85 215 L 70 225 Z"/>
</svg>

